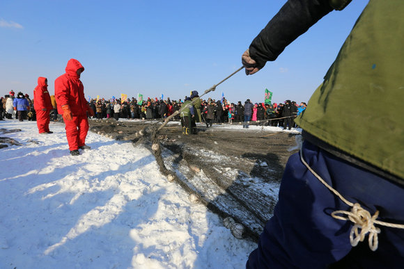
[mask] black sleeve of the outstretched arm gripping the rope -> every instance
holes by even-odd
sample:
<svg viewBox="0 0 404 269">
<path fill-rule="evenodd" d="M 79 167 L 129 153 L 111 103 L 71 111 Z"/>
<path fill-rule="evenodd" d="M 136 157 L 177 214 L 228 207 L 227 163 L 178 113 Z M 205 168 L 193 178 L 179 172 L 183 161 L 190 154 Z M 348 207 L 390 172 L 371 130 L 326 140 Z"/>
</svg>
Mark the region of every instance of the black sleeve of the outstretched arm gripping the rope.
<svg viewBox="0 0 404 269">
<path fill-rule="evenodd" d="M 251 42 L 250 57 L 261 69 L 331 11 L 328 0 L 288 0 Z"/>
</svg>

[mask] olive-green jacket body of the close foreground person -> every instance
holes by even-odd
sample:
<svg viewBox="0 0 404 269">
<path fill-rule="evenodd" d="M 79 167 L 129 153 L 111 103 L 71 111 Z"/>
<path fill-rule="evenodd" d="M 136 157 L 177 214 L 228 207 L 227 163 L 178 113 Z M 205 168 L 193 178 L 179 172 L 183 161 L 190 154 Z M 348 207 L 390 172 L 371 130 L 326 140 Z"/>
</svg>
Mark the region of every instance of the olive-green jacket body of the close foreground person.
<svg viewBox="0 0 404 269">
<path fill-rule="evenodd" d="M 404 1 L 371 0 L 295 121 L 404 179 Z M 332 33 L 330 33 L 332 34 Z"/>
</svg>

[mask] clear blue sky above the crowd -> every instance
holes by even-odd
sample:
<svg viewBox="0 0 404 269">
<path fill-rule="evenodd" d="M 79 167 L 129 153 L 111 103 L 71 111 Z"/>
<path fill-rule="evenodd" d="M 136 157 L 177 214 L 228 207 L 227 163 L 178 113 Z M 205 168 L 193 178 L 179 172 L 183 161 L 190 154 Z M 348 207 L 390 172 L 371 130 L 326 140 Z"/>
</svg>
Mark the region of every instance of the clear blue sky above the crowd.
<svg viewBox="0 0 404 269">
<path fill-rule="evenodd" d="M 33 95 L 76 58 L 87 96 L 179 99 L 201 94 L 241 67 L 241 55 L 286 1 L 19 1 L 0 2 L 0 94 Z M 272 63 L 244 71 L 207 97 L 237 102 L 309 101 L 367 0 L 320 20 Z"/>
</svg>

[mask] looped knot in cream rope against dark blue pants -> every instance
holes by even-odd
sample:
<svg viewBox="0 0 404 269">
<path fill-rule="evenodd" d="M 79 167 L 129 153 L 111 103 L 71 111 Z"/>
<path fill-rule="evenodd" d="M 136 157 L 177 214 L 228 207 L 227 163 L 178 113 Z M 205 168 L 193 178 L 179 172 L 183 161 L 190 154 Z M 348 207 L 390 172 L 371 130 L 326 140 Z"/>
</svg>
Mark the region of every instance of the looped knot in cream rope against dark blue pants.
<svg viewBox="0 0 404 269">
<path fill-rule="evenodd" d="M 344 217 L 341 215 L 347 215 Z M 366 234 L 369 234 L 368 243 L 371 250 L 378 249 L 378 234 L 380 234 L 380 228 L 375 227 L 376 219 L 379 216 L 379 211 L 376 211 L 374 215 L 371 215 L 369 211 L 363 209 L 360 204 L 355 203 L 352 206 L 351 211 L 338 210 L 332 212 L 332 217 L 339 220 L 350 220 L 354 224 L 350 230 L 350 244 L 352 247 L 364 241 Z"/>
</svg>

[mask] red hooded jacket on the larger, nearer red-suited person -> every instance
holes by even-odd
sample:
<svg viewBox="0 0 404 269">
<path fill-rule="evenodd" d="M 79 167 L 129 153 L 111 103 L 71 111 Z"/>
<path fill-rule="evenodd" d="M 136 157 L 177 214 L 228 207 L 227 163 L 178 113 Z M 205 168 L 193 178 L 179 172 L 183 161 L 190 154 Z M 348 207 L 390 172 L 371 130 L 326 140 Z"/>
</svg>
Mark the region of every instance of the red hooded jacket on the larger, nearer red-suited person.
<svg viewBox="0 0 404 269">
<path fill-rule="evenodd" d="M 84 115 L 88 111 L 84 86 L 77 74 L 79 69 L 84 71 L 83 65 L 76 59 L 70 59 L 65 68 L 65 74 L 55 80 L 55 99 L 59 114 L 63 114 L 61 107 L 65 104 L 70 106 L 73 116 Z"/>
</svg>

